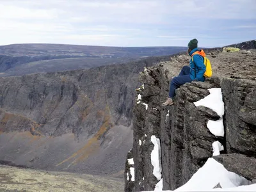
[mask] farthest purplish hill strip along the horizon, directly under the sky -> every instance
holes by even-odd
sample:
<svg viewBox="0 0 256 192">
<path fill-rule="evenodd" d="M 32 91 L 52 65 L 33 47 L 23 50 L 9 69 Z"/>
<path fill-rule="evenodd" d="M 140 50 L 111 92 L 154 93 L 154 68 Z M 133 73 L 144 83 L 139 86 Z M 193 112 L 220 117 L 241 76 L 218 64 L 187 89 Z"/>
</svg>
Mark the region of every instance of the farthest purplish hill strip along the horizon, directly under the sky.
<svg viewBox="0 0 256 192">
<path fill-rule="evenodd" d="M 63 44 L 13 44 L 0 46 L 0 54 L 8 56 L 72 56 L 93 58 L 134 58 L 163 56 L 186 51 L 187 47 L 103 47 Z"/>
</svg>

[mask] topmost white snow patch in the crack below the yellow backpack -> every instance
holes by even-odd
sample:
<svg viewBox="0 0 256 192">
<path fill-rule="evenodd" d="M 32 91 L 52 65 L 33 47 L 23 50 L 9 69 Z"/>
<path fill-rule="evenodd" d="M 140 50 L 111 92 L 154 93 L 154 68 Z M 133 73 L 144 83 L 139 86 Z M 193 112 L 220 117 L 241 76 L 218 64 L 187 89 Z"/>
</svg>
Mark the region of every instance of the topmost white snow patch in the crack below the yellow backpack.
<svg viewBox="0 0 256 192">
<path fill-rule="evenodd" d="M 224 115 L 224 102 L 222 100 L 221 88 L 209 89 L 210 95 L 207 95 L 204 99 L 194 102 L 195 106 L 205 106 L 215 111 L 219 116 Z"/>
</svg>

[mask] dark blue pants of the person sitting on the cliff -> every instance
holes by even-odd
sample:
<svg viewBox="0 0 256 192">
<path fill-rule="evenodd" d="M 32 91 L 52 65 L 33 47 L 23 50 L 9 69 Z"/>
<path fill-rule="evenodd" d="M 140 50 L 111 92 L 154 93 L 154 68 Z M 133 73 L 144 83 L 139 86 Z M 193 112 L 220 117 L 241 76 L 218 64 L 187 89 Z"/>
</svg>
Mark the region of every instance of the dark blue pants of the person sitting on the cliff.
<svg viewBox="0 0 256 192">
<path fill-rule="evenodd" d="M 175 95 L 175 90 L 180 87 L 180 85 L 185 83 L 190 83 L 192 79 L 189 76 L 190 73 L 190 67 L 184 66 L 182 67 L 182 70 L 180 71 L 180 74 L 178 77 L 173 77 L 171 83 L 170 83 L 170 91 L 169 91 L 169 97 L 173 99 Z"/>
</svg>

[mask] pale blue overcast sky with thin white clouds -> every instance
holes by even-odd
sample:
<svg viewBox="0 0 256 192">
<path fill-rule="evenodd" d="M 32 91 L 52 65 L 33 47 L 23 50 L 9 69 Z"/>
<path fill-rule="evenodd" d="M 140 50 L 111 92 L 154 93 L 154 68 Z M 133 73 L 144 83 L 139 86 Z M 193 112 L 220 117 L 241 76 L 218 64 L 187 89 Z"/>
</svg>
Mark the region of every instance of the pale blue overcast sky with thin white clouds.
<svg viewBox="0 0 256 192">
<path fill-rule="evenodd" d="M 0 0 L 0 45 L 218 47 L 256 38 L 256 0 Z"/>
</svg>

